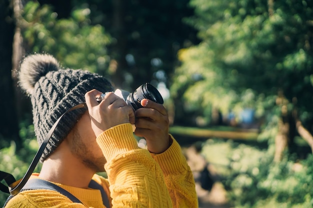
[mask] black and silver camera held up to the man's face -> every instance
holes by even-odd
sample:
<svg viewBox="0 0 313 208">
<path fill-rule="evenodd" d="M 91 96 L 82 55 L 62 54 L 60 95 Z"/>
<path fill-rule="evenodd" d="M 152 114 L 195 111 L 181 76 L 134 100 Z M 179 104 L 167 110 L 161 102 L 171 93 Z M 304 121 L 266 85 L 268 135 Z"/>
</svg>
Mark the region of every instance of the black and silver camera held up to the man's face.
<svg viewBox="0 0 313 208">
<path fill-rule="evenodd" d="M 127 103 L 127 105 L 132 107 L 134 111 L 142 108 L 140 101 L 143 99 L 149 99 L 159 104 L 163 104 L 164 102 L 159 91 L 149 83 L 140 85 L 136 90 L 131 93 L 125 90 L 116 89 L 114 91 L 114 94 L 122 98 Z M 97 98 L 97 101 L 101 102 L 101 100 L 104 98 L 104 95 L 105 94 L 102 94 L 99 98 Z"/>
</svg>

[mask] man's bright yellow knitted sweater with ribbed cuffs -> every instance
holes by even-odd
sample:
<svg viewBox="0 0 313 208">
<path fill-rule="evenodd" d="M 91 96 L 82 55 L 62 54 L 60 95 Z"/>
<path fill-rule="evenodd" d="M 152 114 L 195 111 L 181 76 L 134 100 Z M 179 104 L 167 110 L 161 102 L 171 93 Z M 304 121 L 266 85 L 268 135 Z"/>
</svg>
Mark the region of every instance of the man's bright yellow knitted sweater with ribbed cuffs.
<svg viewBox="0 0 313 208">
<path fill-rule="evenodd" d="M 171 137 L 171 136 L 170 136 Z M 178 143 L 161 154 L 140 149 L 130 124 L 110 128 L 96 139 L 106 158 L 108 179 L 93 176 L 112 208 L 197 208 L 194 180 Z M 38 177 L 37 174 L 32 176 Z M 56 184 L 83 204 L 50 190 L 28 190 L 14 196 L 5 208 L 103 208 L 98 190 Z"/>
</svg>

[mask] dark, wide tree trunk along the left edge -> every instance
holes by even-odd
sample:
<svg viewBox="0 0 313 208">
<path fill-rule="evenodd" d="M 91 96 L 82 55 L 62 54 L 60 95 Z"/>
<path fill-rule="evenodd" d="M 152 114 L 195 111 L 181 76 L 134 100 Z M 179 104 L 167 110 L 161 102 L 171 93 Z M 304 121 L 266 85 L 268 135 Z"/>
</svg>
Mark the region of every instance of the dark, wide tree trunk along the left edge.
<svg viewBox="0 0 313 208">
<path fill-rule="evenodd" d="M 12 80 L 12 42 L 15 23 L 13 20 L 12 1 L 0 1 L 0 89 L 1 89 L 1 119 L 0 119 L 0 147 L 7 146 L 14 141 L 16 148 L 21 147 L 18 134 L 18 119 L 15 110 L 15 96 Z"/>
</svg>

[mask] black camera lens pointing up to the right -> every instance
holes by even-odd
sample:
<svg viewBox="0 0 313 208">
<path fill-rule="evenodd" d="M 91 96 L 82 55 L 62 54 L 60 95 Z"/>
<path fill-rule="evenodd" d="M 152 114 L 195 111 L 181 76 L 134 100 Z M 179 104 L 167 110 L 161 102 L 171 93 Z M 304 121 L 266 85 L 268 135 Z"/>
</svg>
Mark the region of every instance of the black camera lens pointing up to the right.
<svg viewBox="0 0 313 208">
<path fill-rule="evenodd" d="M 140 101 L 149 99 L 153 102 L 163 104 L 163 98 L 158 90 L 149 83 L 139 86 L 135 91 L 130 93 L 126 98 L 127 105 L 130 105 L 133 110 L 142 108 Z"/>
</svg>

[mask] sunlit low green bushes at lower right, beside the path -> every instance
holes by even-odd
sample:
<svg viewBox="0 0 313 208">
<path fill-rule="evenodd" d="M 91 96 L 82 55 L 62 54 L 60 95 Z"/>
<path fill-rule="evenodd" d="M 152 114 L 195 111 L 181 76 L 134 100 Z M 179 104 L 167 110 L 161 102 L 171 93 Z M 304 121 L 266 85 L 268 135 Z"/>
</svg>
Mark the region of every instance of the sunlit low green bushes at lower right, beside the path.
<svg viewBox="0 0 313 208">
<path fill-rule="evenodd" d="M 222 176 L 228 200 L 235 208 L 310 208 L 313 206 L 313 156 L 292 156 L 272 162 L 273 152 L 251 144 L 207 140 L 206 160 Z"/>
</svg>

